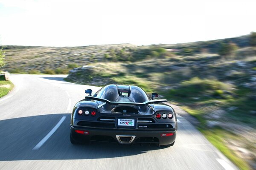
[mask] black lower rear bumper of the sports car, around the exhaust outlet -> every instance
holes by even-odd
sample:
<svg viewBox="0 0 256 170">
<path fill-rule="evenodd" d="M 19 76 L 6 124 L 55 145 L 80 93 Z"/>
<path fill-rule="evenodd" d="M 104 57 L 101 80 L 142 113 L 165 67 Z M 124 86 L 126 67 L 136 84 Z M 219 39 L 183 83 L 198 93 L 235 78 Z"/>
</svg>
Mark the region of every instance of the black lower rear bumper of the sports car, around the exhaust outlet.
<svg viewBox="0 0 256 170">
<path fill-rule="evenodd" d="M 76 133 L 75 130 L 84 130 L 89 134 Z M 172 136 L 161 134 L 173 133 Z M 175 142 L 177 130 L 118 130 L 74 127 L 70 125 L 70 137 L 77 142 L 102 141 L 118 142 L 120 144 L 158 143 L 159 145 Z M 119 136 L 132 136 L 131 142 L 120 142 Z"/>
</svg>

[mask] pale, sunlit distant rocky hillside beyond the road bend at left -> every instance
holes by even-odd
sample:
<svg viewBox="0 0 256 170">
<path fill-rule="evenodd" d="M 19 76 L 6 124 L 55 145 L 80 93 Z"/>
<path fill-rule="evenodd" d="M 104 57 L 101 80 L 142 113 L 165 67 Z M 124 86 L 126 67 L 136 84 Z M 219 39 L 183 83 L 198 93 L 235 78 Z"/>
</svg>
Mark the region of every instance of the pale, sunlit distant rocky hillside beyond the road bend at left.
<svg viewBox="0 0 256 170">
<path fill-rule="evenodd" d="M 101 61 L 104 55 L 123 48 L 135 48 L 136 45 L 90 45 L 81 47 L 38 47 L 38 46 L 6 46 L 5 71 L 13 73 L 45 73 L 52 70 L 68 73 L 69 64 L 85 65 L 89 62 Z M 68 70 L 67 70 L 68 69 Z M 53 72 L 55 74 L 55 72 Z"/>
</svg>

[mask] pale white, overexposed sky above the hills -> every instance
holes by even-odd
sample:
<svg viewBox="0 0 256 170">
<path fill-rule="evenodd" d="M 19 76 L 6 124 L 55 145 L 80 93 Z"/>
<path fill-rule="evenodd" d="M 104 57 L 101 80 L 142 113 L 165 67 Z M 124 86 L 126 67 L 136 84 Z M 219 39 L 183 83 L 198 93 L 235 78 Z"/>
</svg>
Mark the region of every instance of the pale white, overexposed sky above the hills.
<svg viewBox="0 0 256 170">
<path fill-rule="evenodd" d="M 0 0 L 0 45 L 173 44 L 256 31 L 256 0 Z"/>
</svg>

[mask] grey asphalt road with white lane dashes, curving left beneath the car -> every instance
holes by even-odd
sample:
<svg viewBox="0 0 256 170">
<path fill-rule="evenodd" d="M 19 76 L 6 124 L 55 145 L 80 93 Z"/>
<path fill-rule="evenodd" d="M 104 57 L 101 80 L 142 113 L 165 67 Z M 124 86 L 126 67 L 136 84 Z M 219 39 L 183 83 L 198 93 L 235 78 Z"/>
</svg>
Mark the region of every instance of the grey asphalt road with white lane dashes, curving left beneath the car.
<svg viewBox="0 0 256 170">
<path fill-rule="evenodd" d="M 178 115 L 175 145 L 72 145 L 72 107 L 84 90 L 65 75 L 11 75 L 15 89 L 0 98 L 0 169 L 235 170 L 204 136 Z"/>
</svg>

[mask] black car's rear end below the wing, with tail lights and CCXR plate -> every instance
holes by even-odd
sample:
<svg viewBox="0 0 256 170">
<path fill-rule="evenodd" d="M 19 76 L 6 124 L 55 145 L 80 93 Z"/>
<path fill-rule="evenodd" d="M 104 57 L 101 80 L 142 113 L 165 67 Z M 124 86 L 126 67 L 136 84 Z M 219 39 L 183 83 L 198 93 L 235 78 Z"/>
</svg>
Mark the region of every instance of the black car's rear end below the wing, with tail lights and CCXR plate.
<svg viewBox="0 0 256 170">
<path fill-rule="evenodd" d="M 166 105 L 155 105 L 151 115 L 100 113 L 81 105 L 74 108 L 70 123 L 72 143 L 93 141 L 119 144 L 174 144 L 177 133 L 175 111 Z"/>
</svg>

